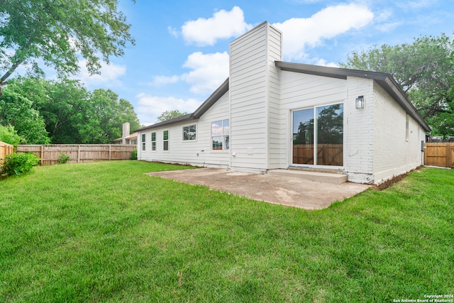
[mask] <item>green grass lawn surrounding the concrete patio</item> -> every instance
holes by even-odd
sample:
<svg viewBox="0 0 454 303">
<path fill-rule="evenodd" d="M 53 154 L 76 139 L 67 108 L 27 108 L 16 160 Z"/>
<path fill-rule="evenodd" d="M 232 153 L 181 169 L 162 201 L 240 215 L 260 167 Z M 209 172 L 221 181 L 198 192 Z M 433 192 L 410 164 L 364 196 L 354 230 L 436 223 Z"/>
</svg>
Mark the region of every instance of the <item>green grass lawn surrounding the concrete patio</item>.
<svg viewBox="0 0 454 303">
<path fill-rule="evenodd" d="M 454 170 L 304 211 L 139 161 L 0 180 L 0 302 L 393 302 L 454 294 Z"/>
</svg>

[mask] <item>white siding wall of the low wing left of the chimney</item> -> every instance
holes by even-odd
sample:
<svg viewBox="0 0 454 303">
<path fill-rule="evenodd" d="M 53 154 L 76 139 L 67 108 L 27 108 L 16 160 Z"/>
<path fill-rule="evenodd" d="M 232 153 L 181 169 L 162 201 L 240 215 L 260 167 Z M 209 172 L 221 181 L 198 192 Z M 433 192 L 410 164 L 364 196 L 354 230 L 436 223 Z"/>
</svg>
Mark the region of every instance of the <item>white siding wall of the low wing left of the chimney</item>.
<svg viewBox="0 0 454 303">
<path fill-rule="evenodd" d="M 147 130 L 145 151 L 139 160 L 178 162 L 198 166 L 228 167 L 228 151 L 211 150 L 211 122 L 228 119 L 228 92 L 198 120 Z M 183 126 L 196 124 L 196 141 L 183 141 Z M 162 131 L 169 130 L 169 150 L 163 150 Z M 156 132 L 156 151 L 151 150 L 151 133 Z M 141 140 L 141 133 L 139 134 Z M 141 148 L 141 141 L 138 145 Z"/>
</svg>

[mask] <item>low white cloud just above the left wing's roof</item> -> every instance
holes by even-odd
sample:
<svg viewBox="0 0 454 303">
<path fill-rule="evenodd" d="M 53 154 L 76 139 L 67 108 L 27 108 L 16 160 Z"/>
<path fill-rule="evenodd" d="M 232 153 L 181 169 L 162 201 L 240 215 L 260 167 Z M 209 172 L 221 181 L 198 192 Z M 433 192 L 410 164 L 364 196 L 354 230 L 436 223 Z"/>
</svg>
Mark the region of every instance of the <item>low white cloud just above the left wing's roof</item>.
<svg viewBox="0 0 454 303">
<path fill-rule="evenodd" d="M 135 96 L 138 99 L 135 112 L 140 123 L 150 125 L 156 123 L 157 116 L 164 111 L 178 109 L 192 113 L 201 104 L 196 99 L 179 99 L 175 97 L 157 97 L 150 94 L 140 93 Z"/>
</svg>

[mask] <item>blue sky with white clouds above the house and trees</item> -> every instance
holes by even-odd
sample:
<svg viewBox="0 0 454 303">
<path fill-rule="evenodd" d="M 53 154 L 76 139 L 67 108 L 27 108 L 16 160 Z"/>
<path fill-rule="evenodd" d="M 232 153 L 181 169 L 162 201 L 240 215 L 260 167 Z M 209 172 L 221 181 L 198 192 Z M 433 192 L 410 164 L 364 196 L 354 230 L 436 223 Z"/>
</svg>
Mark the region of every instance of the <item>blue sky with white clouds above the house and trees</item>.
<svg viewBox="0 0 454 303">
<path fill-rule="evenodd" d="M 454 32 L 454 0 L 120 0 L 120 9 L 135 45 L 100 76 L 77 79 L 130 101 L 145 125 L 194 111 L 228 77 L 229 43 L 263 21 L 282 31 L 284 61 L 328 66 L 371 45 Z"/>
</svg>

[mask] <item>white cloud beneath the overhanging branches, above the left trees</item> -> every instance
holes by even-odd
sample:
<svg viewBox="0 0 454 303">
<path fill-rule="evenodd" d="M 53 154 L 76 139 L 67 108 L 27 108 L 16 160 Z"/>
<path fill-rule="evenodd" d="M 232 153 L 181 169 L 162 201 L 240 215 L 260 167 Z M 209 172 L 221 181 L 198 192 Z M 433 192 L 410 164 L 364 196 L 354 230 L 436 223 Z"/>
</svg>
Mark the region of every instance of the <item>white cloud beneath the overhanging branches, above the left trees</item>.
<svg viewBox="0 0 454 303">
<path fill-rule="evenodd" d="M 79 61 L 80 72 L 74 78 L 81 80 L 85 85 L 91 86 L 92 84 L 111 84 L 112 86 L 118 85 L 119 77 L 126 74 L 126 67 L 124 65 L 106 64 L 101 62 L 101 74 L 90 75 L 87 67 L 85 66 L 87 60 Z"/>
</svg>

